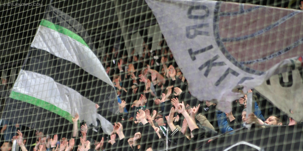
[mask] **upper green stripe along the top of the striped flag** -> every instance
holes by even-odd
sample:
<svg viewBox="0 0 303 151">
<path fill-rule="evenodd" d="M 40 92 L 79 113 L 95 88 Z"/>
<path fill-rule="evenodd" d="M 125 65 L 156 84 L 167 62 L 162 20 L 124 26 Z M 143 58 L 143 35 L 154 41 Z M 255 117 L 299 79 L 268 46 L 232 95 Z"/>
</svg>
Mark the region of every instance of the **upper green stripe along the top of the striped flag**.
<svg viewBox="0 0 303 151">
<path fill-rule="evenodd" d="M 75 39 L 76 41 L 80 42 L 81 44 L 85 45 L 88 47 L 88 45 L 86 44 L 86 42 L 82 39 L 82 37 L 80 37 L 78 34 L 68 30 L 67 28 L 64 28 L 62 26 L 56 25 L 48 20 L 41 20 L 40 22 L 41 26 L 45 26 L 47 28 L 50 28 L 54 31 L 60 32 L 68 37 L 71 37 L 73 39 Z M 89 48 L 89 47 L 88 47 Z"/>
</svg>

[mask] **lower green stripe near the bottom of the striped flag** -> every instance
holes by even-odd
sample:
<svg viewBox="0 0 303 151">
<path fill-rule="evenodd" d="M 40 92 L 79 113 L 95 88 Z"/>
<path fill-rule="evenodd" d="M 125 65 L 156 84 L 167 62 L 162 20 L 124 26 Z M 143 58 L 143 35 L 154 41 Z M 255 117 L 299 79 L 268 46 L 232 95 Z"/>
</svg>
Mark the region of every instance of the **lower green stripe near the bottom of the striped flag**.
<svg viewBox="0 0 303 151">
<path fill-rule="evenodd" d="M 69 120 L 70 122 L 72 122 L 72 116 L 70 113 L 58 108 L 57 106 L 52 105 L 51 103 L 15 91 L 11 91 L 10 97 L 52 111 L 53 113 L 56 113 L 62 116 L 63 118 Z"/>
</svg>

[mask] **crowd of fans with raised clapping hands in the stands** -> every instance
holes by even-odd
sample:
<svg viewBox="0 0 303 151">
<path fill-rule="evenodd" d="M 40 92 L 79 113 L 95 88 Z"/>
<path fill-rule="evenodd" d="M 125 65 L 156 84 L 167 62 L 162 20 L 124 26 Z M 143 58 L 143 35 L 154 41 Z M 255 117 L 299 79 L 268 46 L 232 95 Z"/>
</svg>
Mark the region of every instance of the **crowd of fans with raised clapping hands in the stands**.
<svg viewBox="0 0 303 151">
<path fill-rule="evenodd" d="M 211 101 L 200 102 L 187 89 L 188 83 L 180 71 L 165 41 L 157 50 L 143 45 L 141 56 L 111 48 L 102 61 L 118 94 L 120 114 L 110 135 L 83 124 L 78 130 L 78 114 L 73 118 L 72 138 L 35 133 L 34 141 L 16 124 L 14 135 L 4 136 L 1 150 L 9 151 L 12 140 L 22 151 L 101 151 L 101 150 L 191 150 L 211 141 L 213 136 L 230 132 L 245 124 L 285 125 L 279 116 L 264 117 L 260 102 L 253 95 L 254 110 L 246 118 L 247 93 L 233 102 L 233 111 L 216 110 Z M 131 56 L 131 57 L 129 57 Z M 101 111 L 96 104 L 97 112 Z M 1 133 L 7 134 L 5 123 Z M 289 125 L 296 124 L 290 118 Z M 91 131 L 91 132 L 89 132 Z M 95 133 L 97 132 L 97 134 Z M 98 135 L 96 137 L 96 135 Z M 11 138 L 12 137 L 12 138 Z"/>
</svg>

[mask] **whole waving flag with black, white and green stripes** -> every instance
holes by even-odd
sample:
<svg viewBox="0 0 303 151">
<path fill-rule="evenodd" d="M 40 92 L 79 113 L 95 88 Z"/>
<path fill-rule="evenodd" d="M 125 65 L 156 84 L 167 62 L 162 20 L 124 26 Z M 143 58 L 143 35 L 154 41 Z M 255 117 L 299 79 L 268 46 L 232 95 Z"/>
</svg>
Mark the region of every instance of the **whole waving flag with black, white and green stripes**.
<svg viewBox="0 0 303 151">
<path fill-rule="evenodd" d="M 95 104 L 110 117 L 119 112 L 117 96 L 86 29 L 49 6 L 30 47 L 2 119 L 38 129 L 66 124 L 78 113 L 88 124 L 99 119 L 109 134 L 112 125 Z"/>
</svg>

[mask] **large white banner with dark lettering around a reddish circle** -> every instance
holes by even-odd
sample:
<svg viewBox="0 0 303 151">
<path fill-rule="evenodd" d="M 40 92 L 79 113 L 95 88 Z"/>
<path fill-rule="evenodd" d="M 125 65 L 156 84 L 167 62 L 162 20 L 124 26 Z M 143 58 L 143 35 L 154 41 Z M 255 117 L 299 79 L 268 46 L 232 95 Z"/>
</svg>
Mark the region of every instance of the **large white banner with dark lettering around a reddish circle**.
<svg viewBox="0 0 303 151">
<path fill-rule="evenodd" d="M 219 110 L 231 111 L 231 102 L 242 97 L 235 88 L 247 92 L 303 55 L 301 11 L 206 0 L 146 2 L 190 93 L 217 101 Z"/>
</svg>

